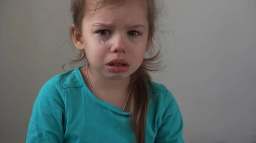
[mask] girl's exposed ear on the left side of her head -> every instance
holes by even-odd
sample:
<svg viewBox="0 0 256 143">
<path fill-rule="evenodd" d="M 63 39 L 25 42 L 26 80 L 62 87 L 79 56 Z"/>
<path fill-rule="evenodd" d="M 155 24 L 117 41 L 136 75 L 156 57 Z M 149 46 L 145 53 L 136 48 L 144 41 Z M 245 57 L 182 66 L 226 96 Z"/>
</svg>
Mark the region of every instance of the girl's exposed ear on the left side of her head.
<svg viewBox="0 0 256 143">
<path fill-rule="evenodd" d="M 78 28 L 74 24 L 70 26 L 70 34 L 72 36 L 72 40 L 74 45 L 78 50 L 84 50 L 84 43 L 82 40 L 82 36 L 78 31 Z"/>
</svg>

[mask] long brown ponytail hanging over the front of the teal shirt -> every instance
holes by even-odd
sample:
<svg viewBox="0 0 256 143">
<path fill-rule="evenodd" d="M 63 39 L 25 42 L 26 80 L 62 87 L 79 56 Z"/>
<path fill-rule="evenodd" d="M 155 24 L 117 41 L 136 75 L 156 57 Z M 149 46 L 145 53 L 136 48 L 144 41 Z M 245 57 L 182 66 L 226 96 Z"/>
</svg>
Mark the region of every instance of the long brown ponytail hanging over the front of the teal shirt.
<svg viewBox="0 0 256 143">
<path fill-rule="evenodd" d="M 131 119 L 136 143 L 145 143 L 145 129 L 148 112 L 148 82 L 151 78 L 142 66 L 131 75 Z M 152 86 L 152 85 L 151 85 Z M 153 88 L 152 88 L 153 89 Z M 153 92 L 154 93 L 154 92 Z"/>
</svg>

